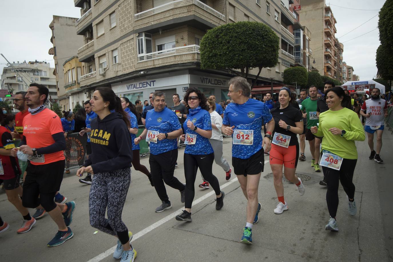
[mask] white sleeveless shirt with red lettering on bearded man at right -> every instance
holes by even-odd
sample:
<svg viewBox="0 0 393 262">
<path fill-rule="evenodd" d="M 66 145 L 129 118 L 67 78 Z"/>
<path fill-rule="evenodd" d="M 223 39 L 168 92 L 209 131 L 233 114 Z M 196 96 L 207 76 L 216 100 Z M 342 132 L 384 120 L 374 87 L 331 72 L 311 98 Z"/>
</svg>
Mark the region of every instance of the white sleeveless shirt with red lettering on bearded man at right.
<svg viewBox="0 0 393 262">
<path fill-rule="evenodd" d="M 367 126 L 382 126 L 385 124 L 384 109 L 387 109 L 385 99 L 367 99 L 362 105 L 362 110 L 366 113 L 371 113 L 370 117 L 366 118 Z"/>
</svg>

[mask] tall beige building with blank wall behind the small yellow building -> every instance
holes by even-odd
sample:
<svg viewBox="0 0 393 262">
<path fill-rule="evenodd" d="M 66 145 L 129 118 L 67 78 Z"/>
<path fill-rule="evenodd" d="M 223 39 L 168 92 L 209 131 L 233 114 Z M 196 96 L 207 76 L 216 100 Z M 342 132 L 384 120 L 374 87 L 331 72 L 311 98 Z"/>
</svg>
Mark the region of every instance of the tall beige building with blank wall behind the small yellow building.
<svg viewBox="0 0 393 262">
<path fill-rule="evenodd" d="M 77 18 L 61 17 L 53 15 L 53 20 L 49 25 L 52 30 L 50 41 L 53 47 L 49 49 L 48 53 L 53 55 L 55 59 L 55 71 L 53 74 L 56 76 L 57 96 L 59 97 L 59 104 L 61 108 L 65 108 L 66 104 L 70 104 L 64 89 L 64 72 L 63 63 L 67 59 L 76 56 L 78 48 L 84 44 L 82 35 L 76 34 L 76 21 Z M 69 108 L 66 108 L 67 110 Z"/>
</svg>

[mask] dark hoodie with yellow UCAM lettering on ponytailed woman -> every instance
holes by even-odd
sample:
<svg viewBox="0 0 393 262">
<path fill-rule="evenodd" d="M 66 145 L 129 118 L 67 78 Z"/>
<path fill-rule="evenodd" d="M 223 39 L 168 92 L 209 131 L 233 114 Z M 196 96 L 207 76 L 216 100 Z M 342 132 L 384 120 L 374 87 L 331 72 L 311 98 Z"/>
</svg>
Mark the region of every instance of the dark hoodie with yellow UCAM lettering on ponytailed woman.
<svg viewBox="0 0 393 262">
<path fill-rule="evenodd" d="M 120 113 L 110 113 L 102 120 L 97 116 L 91 128 L 92 154 L 83 166 L 91 165 L 94 174 L 132 166 L 130 132 Z"/>
</svg>

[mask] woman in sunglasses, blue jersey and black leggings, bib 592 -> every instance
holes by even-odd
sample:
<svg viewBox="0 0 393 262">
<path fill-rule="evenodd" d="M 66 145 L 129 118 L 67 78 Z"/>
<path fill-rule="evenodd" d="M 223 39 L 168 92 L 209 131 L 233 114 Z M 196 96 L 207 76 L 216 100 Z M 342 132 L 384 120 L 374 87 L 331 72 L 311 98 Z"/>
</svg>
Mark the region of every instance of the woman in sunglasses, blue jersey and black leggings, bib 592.
<svg viewBox="0 0 393 262">
<path fill-rule="evenodd" d="M 184 100 L 188 101 L 190 109 L 187 120 L 183 124 L 185 135 L 181 137 L 186 144 L 184 151 L 185 206 L 183 213 L 176 216 L 176 220 L 191 222 L 193 221 L 191 206 L 195 196 L 194 184 L 198 167 L 202 177 L 210 182 L 215 191 L 216 210 L 220 210 L 224 206 L 225 193 L 220 191 L 219 180 L 212 173 L 214 152 L 209 143 L 212 134 L 211 120 L 209 112 L 203 109 L 207 107 L 206 97 L 196 87 L 189 87 L 184 95 Z M 214 102 L 213 98 L 211 101 Z"/>
</svg>

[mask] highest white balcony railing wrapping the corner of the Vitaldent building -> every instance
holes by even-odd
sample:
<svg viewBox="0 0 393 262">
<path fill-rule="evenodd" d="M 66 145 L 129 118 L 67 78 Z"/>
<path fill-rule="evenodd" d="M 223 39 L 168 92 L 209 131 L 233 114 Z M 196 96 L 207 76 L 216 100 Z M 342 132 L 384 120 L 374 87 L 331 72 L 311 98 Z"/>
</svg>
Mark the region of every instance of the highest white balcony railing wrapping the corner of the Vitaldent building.
<svg viewBox="0 0 393 262">
<path fill-rule="evenodd" d="M 162 13 L 164 11 L 173 9 L 173 8 L 178 8 L 178 7 L 183 7 L 183 6 L 189 6 L 189 5 L 196 5 L 205 11 L 211 13 L 212 15 L 215 15 L 216 17 L 223 19 L 225 15 L 217 11 L 216 9 L 200 2 L 199 0 L 176 0 L 173 2 L 169 2 L 167 4 L 163 4 L 161 6 L 153 7 L 151 9 L 145 10 L 143 12 L 135 14 L 135 20 L 143 19 L 145 17 L 149 17 L 151 15 L 155 15 L 158 13 Z"/>
</svg>

